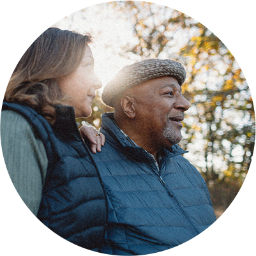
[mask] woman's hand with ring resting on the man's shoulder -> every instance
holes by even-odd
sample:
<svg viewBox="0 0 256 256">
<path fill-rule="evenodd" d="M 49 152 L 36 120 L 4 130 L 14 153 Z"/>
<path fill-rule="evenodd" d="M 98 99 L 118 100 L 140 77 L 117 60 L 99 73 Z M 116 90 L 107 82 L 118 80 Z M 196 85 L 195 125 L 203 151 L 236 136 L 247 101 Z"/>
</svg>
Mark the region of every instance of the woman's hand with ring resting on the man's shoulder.
<svg viewBox="0 0 256 256">
<path fill-rule="evenodd" d="M 83 125 L 79 128 L 82 138 L 86 137 L 91 142 L 91 151 L 95 154 L 96 151 L 102 151 L 102 146 L 105 144 L 105 135 L 98 132 L 92 126 Z"/>
</svg>

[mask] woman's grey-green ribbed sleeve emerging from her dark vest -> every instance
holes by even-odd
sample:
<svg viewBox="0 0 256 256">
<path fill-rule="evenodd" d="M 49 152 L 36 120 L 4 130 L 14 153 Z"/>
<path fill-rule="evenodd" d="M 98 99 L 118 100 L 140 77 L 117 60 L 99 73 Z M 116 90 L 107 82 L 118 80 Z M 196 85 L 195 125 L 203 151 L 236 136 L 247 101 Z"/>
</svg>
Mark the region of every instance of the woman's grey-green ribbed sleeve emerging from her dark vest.
<svg viewBox="0 0 256 256">
<path fill-rule="evenodd" d="M 43 142 L 23 116 L 4 110 L 1 114 L 1 144 L 13 185 L 26 206 L 37 215 L 48 165 Z"/>
</svg>

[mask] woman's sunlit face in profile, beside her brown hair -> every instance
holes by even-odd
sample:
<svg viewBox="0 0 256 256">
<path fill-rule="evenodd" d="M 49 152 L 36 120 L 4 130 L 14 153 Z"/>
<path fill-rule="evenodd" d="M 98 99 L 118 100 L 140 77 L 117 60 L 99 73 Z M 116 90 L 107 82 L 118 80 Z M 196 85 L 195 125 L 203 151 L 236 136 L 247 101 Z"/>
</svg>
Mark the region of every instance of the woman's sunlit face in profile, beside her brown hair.
<svg viewBox="0 0 256 256">
<path fill-rule="evenodd" d="M 96 96 L 96 89 L 102 87 L 102 82 L 94 73 L 93 54 L 88 45 L 77 70 L 60 79 L 58 84 L 64 96 L 67 96 L 64 104 L 75 108 L 76 118 L 91 115 L 91 104 Z"/>
</svg>

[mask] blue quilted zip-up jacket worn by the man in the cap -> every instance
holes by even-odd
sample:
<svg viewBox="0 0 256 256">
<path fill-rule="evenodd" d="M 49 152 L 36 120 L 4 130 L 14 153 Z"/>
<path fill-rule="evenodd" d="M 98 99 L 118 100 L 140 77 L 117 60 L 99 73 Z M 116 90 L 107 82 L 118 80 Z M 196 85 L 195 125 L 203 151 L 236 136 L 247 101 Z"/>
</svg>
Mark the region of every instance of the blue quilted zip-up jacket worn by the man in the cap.
<svg viewBox="0 0 256 256">
<path fill-rule="evenodd" d="M 131 142 L 102 116 L 106 137 L 93 155 L 107 193 L 109 216 L 102 253 L 156 253 L 197 236 L 215 222 L 209 191 L 200 173 L 174 145 L 153 156 Z"/>
</svg>

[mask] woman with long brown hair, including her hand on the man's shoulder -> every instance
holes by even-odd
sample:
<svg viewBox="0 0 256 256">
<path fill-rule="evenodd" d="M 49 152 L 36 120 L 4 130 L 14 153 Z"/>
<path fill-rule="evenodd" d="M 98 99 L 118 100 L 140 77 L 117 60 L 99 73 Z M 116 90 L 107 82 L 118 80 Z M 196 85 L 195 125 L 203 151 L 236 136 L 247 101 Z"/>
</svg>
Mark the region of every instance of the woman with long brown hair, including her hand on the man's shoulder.
<svg viewBox="0 0 256 256">
<path fill-rule="evenodd" d="M 11 180 L 34 215 L 59 236 L 98 251 L 105 194 L 75 123 L 91 114 L 102 86 L 88 43 L 89 34 L 50 28 L 27 49 L 4 96 L 1 143 Z M 93 133 L 95 153 L 104 138 Z"/>
</svg>

